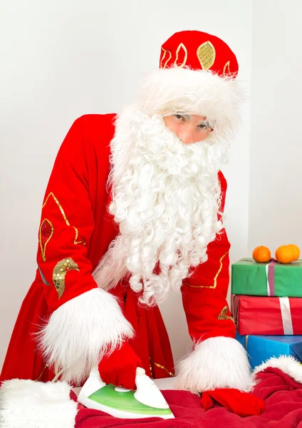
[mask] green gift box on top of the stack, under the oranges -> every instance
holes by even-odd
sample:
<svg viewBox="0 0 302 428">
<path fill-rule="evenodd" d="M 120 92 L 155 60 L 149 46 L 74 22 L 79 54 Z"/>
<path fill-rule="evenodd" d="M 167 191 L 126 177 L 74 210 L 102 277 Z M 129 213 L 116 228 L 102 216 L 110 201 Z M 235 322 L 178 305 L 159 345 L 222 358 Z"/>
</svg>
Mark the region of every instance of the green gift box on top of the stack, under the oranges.
<svg viewBox="0 0 302 428">
<path fill-rule="evenodd" d="M 302 297 L 302 260 L 282 265 L 244 258 L 231 265 L 234 295 Z"/>
</svg>

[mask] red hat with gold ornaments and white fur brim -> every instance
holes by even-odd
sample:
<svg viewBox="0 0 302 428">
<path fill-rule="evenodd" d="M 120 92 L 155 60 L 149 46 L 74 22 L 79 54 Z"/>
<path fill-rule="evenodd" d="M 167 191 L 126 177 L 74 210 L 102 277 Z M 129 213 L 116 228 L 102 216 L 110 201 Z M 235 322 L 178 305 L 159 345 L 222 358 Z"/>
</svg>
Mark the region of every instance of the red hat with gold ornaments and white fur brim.
<svg viewBox="0 0 302 428">
<path fill-rule="evenodd" d="M 227 137 L 240 122 L 238 69 L 235 54 L 217 36 L 179 31 L 162 45 L 160 68 L 146 76 L 138 107 L 148 116 L 179 112 L 206 116 Z"/>
</svg>

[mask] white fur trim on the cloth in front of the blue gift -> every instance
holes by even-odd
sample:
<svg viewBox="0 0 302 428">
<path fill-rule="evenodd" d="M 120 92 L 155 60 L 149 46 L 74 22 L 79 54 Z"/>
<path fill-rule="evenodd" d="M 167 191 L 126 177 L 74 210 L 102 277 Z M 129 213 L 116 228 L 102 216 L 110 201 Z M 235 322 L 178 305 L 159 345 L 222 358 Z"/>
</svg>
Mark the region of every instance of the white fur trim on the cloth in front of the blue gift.
<svg viewBox="0 0 302 428">
<path fill-rule="evenodd" d="M 298 360 L 293 358 L 292 355 L 281 355 L 280 357 L 271 357 L 266 362 L 254 368 L 252 374 L 253 377 L 259 372 L 262 372 L 266 367 L 275 367 L 282 370 L 282 372 L 288 374 L 296 382 L 302 383 L 302 365 Z"/>
</svg>

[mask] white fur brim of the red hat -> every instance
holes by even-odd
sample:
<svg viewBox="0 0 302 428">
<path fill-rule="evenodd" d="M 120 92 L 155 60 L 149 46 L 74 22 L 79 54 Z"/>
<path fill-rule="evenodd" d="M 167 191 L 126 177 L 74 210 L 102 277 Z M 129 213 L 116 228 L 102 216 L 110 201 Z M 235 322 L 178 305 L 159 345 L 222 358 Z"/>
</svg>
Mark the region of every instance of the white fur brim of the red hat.
<svg viewBox="0 0 302 428">
<path fill-rule="evenodd" d="M 165 68 L 148 73 L 138 93 L 143 113 L 177 112 L 206 116 L 226 138 L 240 123 L 244 96 L 236 79 L 212 71 Z"/>
</svg>

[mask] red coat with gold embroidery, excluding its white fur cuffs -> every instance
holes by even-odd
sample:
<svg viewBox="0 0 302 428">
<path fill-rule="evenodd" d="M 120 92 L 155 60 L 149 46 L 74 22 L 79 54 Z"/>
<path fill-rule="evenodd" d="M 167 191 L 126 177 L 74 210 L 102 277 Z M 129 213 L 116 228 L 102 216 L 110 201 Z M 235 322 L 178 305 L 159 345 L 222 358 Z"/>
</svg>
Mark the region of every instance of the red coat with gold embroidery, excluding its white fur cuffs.
<svg viewBox="0 0 302 428">
<path fill-rule="evenodd" d="M 110 141 L 115 115 L 88 115 L 79 118 L 58 152 L 46 189 L 39 228 L 38 270 L 19 312 L 11 336 L 1 380 L 53 378 L 37 350 L 33 333 L 51 313 L 68 300 L 97 287 L 91 272 L 118 234 L 108 213 L 110 194 Z M 227 183 L 219 173 L 222 208 Z M 229 241 L 225 231 L 208 246 L 208 261 L 184 280 L 182 297 L 189 334 L 194 342 L 214 336 L 235 336 L 234 322 L 227 306 L 229 285 Z M 65 287 L 56 281 L 56 272 L 72 259 Z M 68 267 L 68 265 L 67 265 Z M 135 330 L 130 340 L 142 364 L 153 377 L 172 375 L 170 342 L 158 307 L 143 308 L 127 281 L 111 291 L 120 298 L 124 315 Z M 151 372 L 150 372 L 151 371 Z"/>
</svg>

